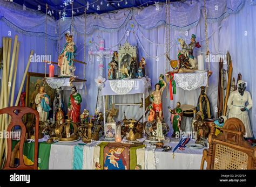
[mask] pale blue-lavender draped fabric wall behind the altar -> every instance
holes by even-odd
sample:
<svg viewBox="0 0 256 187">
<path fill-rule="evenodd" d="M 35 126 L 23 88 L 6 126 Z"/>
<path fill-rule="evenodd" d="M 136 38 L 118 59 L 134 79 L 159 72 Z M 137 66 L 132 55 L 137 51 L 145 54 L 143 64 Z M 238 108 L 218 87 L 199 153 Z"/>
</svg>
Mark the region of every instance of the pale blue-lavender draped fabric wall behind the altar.
<svg viewBox="0 0 256 187">
<path fill-rule="evenodd" d="M 227 5 L 225 4 L 227 2 Z M 256 6 L 250 5 L 256 4 L 254 1 L 244 1 L 244 0 L 227 0 L 227 1 L 211 1 L 211 5 L 208 11 L 208 37 L 210 52 L 213 54 L 225 55 L 227 51 L 230 52 L 233 62 L 233 77 L 237 78 L 237 74 L 240 72 L 242 74 L 242 79 L 248 82 L 247 90 L 251 92 L 252 98 L 254 99 L 253 93 L 255 93 L 256 86 L 253 84 L 255 80 L 254 70 L 255 67 L 253 63 L 255 62 L 255 21 L 256 20 Z M 215 3 L 219 4 L 221 11 L 214 15 L 214 5 Z M 223 6 L 221 6 L 223 3 Z M 223 10 L 223 7 L 225 10 Z M 165 8 L 161 8 L 162 12 L 156 14 L 149 14 L 155 9 L 154 6 L 149 6 L 144 10 L 133 10 L 133 15 L 127 16 L 127 9 L 120 10 L 118 13 L 109 13 L 100 15 L 102 19 L 99 19 L 99 16 L 89 15 L 87 19 L 87 31 L 86 31 L 86 87 L 87 95 L 85 95 L 85 90 L 80 90 L 82 94 L 83 103 L 82 109 L 87 108 L 91 113 L 94 112 L 97 100 L 98 87 L 94 78 L 98 76 L 98 62 L 95 57 L 89 57 L 88 49 L 93 48 L 93 42 L 96 44 L 99 43 L 99 37 L 105 39 L 105 48 L 110 48 L 112 51 L 117 50 L 117 44 L 124 44 L 125 40 L 130 42 L 131 45 L 138 46 L 139 59 L 144 56 L 147 62 L 146 73 L 151 78 L 152 87 L 158 82 L 158 77 L 160 74 L 165 73 Z M 197 41 L 200 42 L 201 48 L 194 51 L 197 56 L 199 52 L 205 52 L 205 24 L 202 14 L 201 4 L 186 4 L 180 5 L 179 3 L 173 3 L 171 6 L 171 59 L 177 59 L 178 44 L 177 39 L 183 37 L 186 39 L 186 42 L 190 42 L 192 34 L 197 35 Z M 126 15 L 124 14 L 126 12 Z M 223 12 L 223 13 L 221 13 Z M 228 13 L 227 13 L 228 12 Z M 130 15 L 130 14 L 129 14 Z M 214 16 L 212 16 L 214 15 Z M 1 12 L 0 12 L 1 16 Z M 111 17 L 109 22 L 104 22 L 105 17 Z M 181 19 L 181 17 L 185 17 Z M 95 17 L 95 19 L 94 19 Z M 127 18 L 126 18 L 127 17 Z M 226 18 L 225 18 L 226 17 Z M 214 19 L 213 19 L 214 18 Z M 38 18 L 39 19 L 39 18 Z M 121 20 L 121 21 L 120 21 Z M 140 24 L 137 22 L 140 20 Z M 148 20 L 148 22 L 143 22 Z M 77 59 L 84 60 L 84 18 L 82 16 L 74 17 L 74 37 L 77 45 Z M 123 23 L 123 26 L 118 25 L 119 22 Z M 6 31 L 9 31 L 11 28 L 6 26 L 6 21 L 2 22 L 1 20 L 1 32 L 0 36 L 6 36 Z M 58 22 L 57 22 L 58 23 Z M 142 24 L 144 23 L 144 24 Z M 43 24 L 43 23 L 42 23 Z M 150 25 L 154 25 L 150 27 Z M 188 26 L 187 26 L 188 25 Z M 54 32 L 54 26 L 49 26 L 52 31 L 51 35 L 56 34 Z M 106 27 L 107 29 L 104 29 Z M 32 27 L 33 28 L 33 27 Z M 36 29 L 37 27 L 33 28 Z M 70 28 L 70 19 L 66 19 L 61 22 L 60 33 L 63 34 Z M 112 28 L 112 29 L 110 29 Z M 186 35 L 186 30 L 188 35 Z M 125 31 L 130 31 L 129 36 L 126 36 Z M 49 33 L 49 32 L 48 32 Z M 58 33 L 58 32 L 57 32 Z M 12 36 L 14 36 L 15 31 L 12 30 Z M 19 33 L 18 33 L 19 34 Z M 50 37 L 51 38 L 51 37 Z M 22 39 L 22 40 L 21 40 Z M 54 37 L 52 38 L 54 39 Z M 26 62 L 28 60 L 28 55 L 30 49 L 35 49 L 35 53 L 44 54 L 44 37 L 32 37 L 29 35 L 19 34 L 19 40 L 22 41 L 21 51 L 19 55 L 19 72 L 18 78 L 16 81 L 16 91 L 21 83 L 22 74 L 24 72 Z M 63 47 L 65 44 L 65 39 L 62 38 L 60 41 L 60 46 Z M 0 42 L 2 45 L 2 41 Z M 61 48 L 62 49 L 62 48 Z M 23 51 L 22 51 L 23 50 Z M 48 39 L 48 52 L 53 55 L 53 61 L 57 60 L 57 42 L 56 40 Z M 156 61 L 156 56 L 159 56 L 159 61 Z M 104 68 L 105 68 L 105 77 L 107 76 L 107 63 L 110 59 L 104 58 Z M 83 78 L 83 65 L 77 64 L 76 74 L 79 78 Z M 226 66 L 225 66 L 226 68 Z M 209 80 L 209 87 L 207 89 L 207 95 L 210 97 L 212 103 L 212 110 L 215 111 L 217 107 L 217 96 L 218 96 L 218 63 L 211 63 L 211 70 L 213 75 Z M 41 63 L 31 64 L 30 71 L 34 72 L 44 72 L 44 65 Z M 48 70 L 47 70 L 48 71 Z M 57 73 L 57 72 L 56 72 Z M 150 90 L 152 91 L 152 90 Z M 167 106 L 172 108 L 176 105 L 176 102 L 180 101 L 181 104 L 197 104 L 197 99 L 199 96 L 200 90 L 196 91 L 184 91 L 177 89 L 177 95 L 174 96 L 174 100 L 170 101 L 169 98 L 166 98 L 166 91 L 163 96 L 163 108 L 166 123 L 170 124 L 170 114 L 167 110 Z M 67 94 L 68 95 L 68 94 Z M 67 96 L 68 97 L 68 96 Z M 254 99 L 255 100 L 255 99 Z M 116 103 L 131 103 L 131 102 L 140 102 L 138 96 L 125 96 L 117 97 Z M 255 102 L 254 102 L 255 103 Z M 142 116 L 142 109 L 139 109 L 138 106 L 120 106 L 119 107 L 119 116 L 118 119 L 123 118 L 123 112 L 126 112 L 127 118 L 139 118 Z M 256 133 L 256 106 L 254 105 L 252 110 L 250 110 L 250 120 L 253 127 L 254 134 Z M 214 112 L 216 116 L 216 112 Z M 186 130 L 189 130 L 187 127 Z"/>
</svg>

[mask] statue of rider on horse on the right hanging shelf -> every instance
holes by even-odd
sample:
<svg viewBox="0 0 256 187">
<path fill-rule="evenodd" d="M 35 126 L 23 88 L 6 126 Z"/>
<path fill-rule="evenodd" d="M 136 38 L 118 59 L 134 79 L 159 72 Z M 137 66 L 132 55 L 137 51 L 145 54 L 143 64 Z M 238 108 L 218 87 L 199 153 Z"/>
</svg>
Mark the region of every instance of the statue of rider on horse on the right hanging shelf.
<svg viewBox="0 0 256 187">
<path fill-rule="evenodd" d="M 196 42 L 196 35 L 192 34 L 190 44 L 186 44 L 184 39 L 178 39 L 181 50 L 178 52 L 178 59 L 181 68 L 194 69 L 197 68 L 197 59 L 193 55 L 194 48 L 200 48 L 199 42 Z"/>
</svg>

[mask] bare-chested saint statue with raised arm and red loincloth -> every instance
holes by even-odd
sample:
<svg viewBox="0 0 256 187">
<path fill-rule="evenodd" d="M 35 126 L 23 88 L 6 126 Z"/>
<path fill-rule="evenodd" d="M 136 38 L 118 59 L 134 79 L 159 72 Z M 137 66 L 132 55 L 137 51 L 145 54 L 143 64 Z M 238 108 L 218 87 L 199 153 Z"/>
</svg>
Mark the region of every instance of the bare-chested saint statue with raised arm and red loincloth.
<svg viewBox="0 0 256 187">
<path fill-rule="evenodd" d="M 154 85 L 155 90 L 151 94 L 151 99 L 153 100 L 153 110 L 158 114 L 161 120 L 164 119 L 164 114 L 163 114 L 163 106 L 162 106 L 162 101 L 161 101 L 161 96 L 163 95 L 163 91 L 166 87 L 166 82 L 164 81 L 163 77 L 159 77 L 159 81 L 163 83 L 162 87 L 160 86 L 159 83 Z"/>
</svg>

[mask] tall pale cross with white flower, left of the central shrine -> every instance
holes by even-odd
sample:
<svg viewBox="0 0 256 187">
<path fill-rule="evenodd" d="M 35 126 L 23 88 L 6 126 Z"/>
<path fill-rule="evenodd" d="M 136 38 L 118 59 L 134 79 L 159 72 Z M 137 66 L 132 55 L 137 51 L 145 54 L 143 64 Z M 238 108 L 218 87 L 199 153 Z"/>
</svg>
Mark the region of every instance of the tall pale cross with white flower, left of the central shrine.
<svg viewBox="0 0 256 187">
<path fill-rule="evenodd" d="M 98 71 L 98 77 L 95 78 L 95 82 L 97 83 L 98 88 L 98 98 L 96 103 L 100 109 L 102 109 L 102 99 L 100 99 L 100 87 L 103 85 L 103 82 L 105 81 L 104 78 L 104 55 L 110 56 L 113 55 L 113 51 L 105 51 L 104 49 L 104 39 L 100 39 L 99 41 L 99 50 L 98 51 L 89 51 L 89 55 L 96 55 L 97 61 L 99 62 L 99 71 Z"/>
</svg>

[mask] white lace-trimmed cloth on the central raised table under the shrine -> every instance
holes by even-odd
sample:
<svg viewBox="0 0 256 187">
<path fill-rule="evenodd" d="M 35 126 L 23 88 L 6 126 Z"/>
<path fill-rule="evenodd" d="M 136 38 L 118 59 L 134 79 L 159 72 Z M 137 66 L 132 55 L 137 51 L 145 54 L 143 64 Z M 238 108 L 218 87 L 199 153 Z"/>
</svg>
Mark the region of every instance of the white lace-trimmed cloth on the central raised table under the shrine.
<svg viewBox="0 0 256 187">
<path fill-rule="evenodd" d="M 151 88 L 151 81 L 145 77 L 127 80 L 106 80 L 102 88 L 102 96 L 145 93 L 147 97 L 149 88 Z"/>
</svg>

